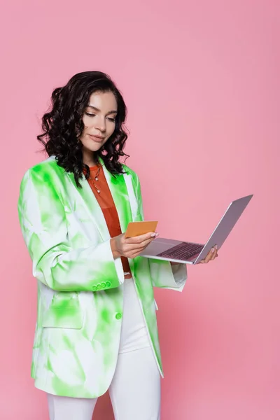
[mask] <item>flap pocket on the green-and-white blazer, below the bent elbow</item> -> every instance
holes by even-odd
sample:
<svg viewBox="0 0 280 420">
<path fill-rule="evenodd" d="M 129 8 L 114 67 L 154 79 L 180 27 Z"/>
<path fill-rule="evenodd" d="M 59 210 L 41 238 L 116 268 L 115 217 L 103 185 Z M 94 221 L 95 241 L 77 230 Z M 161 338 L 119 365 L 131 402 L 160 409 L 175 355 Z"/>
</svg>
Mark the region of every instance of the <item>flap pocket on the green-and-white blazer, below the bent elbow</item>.
<svg viewBox="0 0 280 420">
<path fill-rule="evenodd" d="M 50 307 L 43 315 L 42 327 L 83 328 L 83 311 L 79 308 Z"/>
</svg>

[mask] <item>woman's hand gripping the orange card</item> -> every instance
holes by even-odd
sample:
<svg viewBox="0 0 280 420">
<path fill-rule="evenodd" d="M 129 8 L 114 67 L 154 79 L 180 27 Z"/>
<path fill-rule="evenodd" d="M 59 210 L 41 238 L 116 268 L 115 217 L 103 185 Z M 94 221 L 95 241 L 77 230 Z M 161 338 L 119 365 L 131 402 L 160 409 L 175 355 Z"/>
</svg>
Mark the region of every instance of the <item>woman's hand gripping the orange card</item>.
<svg viewBox="0 0 280 420">
<path fill-rule="evenodd" d="M 151 242 L 158 237 L 158 233 L 148 232 L 145 235 L 137 237 L 126 238 L 125 233 L 111 238 L 111 249 L 113 258 L 126 257 L 135 258 L 144 249 L 151 244 Z"/>
</svg>

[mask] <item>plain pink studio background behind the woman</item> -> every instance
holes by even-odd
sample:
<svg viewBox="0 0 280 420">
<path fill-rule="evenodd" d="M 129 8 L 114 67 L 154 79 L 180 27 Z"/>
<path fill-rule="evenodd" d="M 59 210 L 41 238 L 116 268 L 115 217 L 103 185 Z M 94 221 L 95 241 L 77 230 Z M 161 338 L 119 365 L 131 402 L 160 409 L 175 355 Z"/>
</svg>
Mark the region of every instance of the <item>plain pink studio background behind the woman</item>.
<svg viewBox="0 0 280 420">
<path fill-rule="evenodd" d="M 9 1 L 1 30 L 3 420 L 48 419 L 30 378 L 36 281 L 17 201 L 54 87 L 78 71 L 123 91 L 128 165 L 160 235 L 205 241 L 231 200 L 254 193 L 182 294 L 156 290 L 162 420 L 280 418 L 279 2 Z M 111 420 L 106 396 L 94 420 Z"/>
</svg>

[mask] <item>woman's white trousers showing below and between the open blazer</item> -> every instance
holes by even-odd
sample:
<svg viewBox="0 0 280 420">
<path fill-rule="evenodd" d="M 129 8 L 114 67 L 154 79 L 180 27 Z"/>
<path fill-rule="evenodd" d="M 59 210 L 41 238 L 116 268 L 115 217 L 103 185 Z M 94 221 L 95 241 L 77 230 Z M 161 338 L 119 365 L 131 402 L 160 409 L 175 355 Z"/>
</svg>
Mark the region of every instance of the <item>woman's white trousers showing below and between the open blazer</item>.
<svg viewBox="0 0 280 420">
<path fill-rule="evenodd" d="M 125 281 L 116 372 L 109 387 L 116 420 L 160 420 L 160 372 L 133 281 Z M 50 420 L 92 420 L 97 398 L 48 394 Z"/>
</svg>

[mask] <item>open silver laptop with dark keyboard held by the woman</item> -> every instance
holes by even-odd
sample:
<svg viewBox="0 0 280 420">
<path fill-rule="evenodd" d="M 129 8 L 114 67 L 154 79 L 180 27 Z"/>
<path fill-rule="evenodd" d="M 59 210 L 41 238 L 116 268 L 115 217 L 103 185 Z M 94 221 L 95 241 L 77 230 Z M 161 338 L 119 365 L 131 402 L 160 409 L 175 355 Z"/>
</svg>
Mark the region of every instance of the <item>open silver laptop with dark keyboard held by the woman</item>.
<svg viewBox="0 0 280 420">
<path fill-rule="evenodd" d="M 140 255 L 155 260 L 198 264 L 207 256 L 213 246 L 217 245 L 218 249 L 221 248 L 252 197 L 253 194 L 246 195 L 246 197 L 241 197 L 230 203 L 206 244 L 156 238 Z"/>
</svg>

